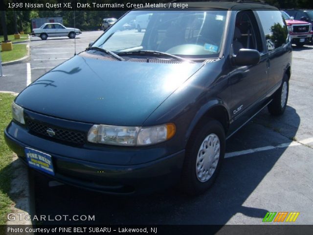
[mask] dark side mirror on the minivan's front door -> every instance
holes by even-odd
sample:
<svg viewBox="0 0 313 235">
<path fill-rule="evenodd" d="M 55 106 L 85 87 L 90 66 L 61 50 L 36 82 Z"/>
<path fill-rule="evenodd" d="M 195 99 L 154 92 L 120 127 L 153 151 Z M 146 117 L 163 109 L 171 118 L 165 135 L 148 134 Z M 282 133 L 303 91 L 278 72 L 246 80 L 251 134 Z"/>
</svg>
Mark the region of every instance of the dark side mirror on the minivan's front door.
<svg viewBox="0 0 313 235">
<path fill-rule="evenodd" d="M 257 65 L 260 62 L 260 53 L 253 49 L 240 49 L 233 57 L 233 64 L 236 66 Z"/>
</svg>

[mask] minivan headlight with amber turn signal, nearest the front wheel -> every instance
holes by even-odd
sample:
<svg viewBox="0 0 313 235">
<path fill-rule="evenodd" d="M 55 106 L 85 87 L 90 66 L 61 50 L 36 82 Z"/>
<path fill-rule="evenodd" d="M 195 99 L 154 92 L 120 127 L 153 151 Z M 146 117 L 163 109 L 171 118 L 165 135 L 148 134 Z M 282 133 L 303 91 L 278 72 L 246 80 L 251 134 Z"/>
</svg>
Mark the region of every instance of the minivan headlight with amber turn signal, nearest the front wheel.
<svg viewBox="0 0 313 235">
<path fill-rule="evenodd" d="M 88 141 L 125 146 L 151 145 L 171 139 L 176 133 L 173 123 L 151 126 L 93 125 L 88 132 Z"/>
</svg>

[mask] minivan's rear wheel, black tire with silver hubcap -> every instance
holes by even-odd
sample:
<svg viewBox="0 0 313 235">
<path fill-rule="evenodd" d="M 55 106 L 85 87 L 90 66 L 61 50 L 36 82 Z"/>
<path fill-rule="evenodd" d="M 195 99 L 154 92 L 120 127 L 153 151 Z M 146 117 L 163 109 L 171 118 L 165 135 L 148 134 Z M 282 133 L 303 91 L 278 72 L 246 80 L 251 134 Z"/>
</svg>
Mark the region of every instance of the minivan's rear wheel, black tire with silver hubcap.
<svg viewBox="0 0 313 235">
<path fill-rule="evenodd" d="M 272 102 L 268 104 L 268 112 L 271 115 L 279 116 L 285 112 L 289 94 L 289 79 L 284 75 L 282 85 L 273 96 Z"/>
</svg>

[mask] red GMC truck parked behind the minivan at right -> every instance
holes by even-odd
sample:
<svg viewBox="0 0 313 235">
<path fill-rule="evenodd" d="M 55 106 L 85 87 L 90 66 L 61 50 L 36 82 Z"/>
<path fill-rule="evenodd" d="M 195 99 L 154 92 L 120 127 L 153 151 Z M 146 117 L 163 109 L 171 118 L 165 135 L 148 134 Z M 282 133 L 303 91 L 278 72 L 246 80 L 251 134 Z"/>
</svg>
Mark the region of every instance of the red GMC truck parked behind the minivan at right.
<svg viewBox="0 0 313 235">
<path fill-rule="evenodd" d="M 294 20 L 293 17 L 290 17 L 284 11 L 282 11 L 282 15 L 286 21 L 292 43 L 302 47 L 312 41 L 313 31 L 311 23 Z"/>
</svg>

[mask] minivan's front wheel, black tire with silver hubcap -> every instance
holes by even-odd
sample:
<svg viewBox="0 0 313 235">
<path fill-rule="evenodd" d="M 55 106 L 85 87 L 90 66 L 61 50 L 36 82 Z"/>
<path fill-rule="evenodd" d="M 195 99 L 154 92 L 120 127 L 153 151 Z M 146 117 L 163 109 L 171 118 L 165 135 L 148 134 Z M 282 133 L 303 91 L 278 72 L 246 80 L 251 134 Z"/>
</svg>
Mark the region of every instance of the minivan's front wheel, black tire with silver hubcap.
<svg viewBox="0 0 313 235">
<path fill-rule="evenodd" d="M 198 124 L 186 147 L 179 188 L 189 195 L 205 192 L 214 183 L 224 155 L 225 133 L 222 124 L 213 119 Z"/>
</svg>

